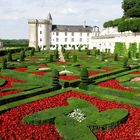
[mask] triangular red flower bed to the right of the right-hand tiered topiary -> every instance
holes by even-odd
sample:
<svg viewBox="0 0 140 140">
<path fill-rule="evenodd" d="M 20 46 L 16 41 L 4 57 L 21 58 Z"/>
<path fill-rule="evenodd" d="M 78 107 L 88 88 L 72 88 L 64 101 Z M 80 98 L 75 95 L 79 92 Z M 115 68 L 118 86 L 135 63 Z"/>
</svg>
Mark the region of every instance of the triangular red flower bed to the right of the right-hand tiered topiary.
<svg viewBox="0 0 140 140">
<path fill-rule="evenodd" d="M 108 81 L 105 81 L 105 82 L 102 82 L 102 83 L 99 83 L 98 86 L 133 92 L 133 90 L 128 89 L 127 87 L 122 86 L 119 81 L 114 80 L 114 79 L 108 80 Z"/>
</svg>

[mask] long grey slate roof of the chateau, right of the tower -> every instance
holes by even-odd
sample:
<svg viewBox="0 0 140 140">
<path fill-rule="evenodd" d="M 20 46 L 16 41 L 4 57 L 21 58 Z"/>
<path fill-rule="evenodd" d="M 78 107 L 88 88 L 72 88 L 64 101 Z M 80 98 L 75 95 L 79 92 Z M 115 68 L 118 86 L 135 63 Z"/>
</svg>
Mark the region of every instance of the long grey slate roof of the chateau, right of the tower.
<svg viewBox="0 0 140 140">
<path fill-rule="evenodd" d="M 92 32 L 93 28 L 91 26 L 82 25 L 52 25 L 52 31 L 58 32 Z"/>
</svg>

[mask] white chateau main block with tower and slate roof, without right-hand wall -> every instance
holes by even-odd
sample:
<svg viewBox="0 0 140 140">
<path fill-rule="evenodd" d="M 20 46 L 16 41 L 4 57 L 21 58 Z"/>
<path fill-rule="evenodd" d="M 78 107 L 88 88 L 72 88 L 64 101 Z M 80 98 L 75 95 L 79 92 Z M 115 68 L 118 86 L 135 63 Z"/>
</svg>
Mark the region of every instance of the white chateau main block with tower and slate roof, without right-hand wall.
<svg viewBox="0 0 140 140">
<path fill-rule="evenodd" d="M 41 49 L 77 49 L 80 45 L 93 49 L 92 37 L 99 35 L 97 26 L 84 25 L 53 25 L 51 14 L 47 19 L 30 19 L 29 24 L 29 46 Z"/>
</svg>

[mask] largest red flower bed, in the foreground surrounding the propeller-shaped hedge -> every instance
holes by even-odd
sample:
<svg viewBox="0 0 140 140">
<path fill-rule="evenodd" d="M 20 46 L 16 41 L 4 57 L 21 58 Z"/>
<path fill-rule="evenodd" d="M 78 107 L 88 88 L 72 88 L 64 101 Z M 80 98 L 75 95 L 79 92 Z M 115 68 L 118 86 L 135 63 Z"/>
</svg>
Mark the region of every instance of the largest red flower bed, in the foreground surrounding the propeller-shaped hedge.
<svg viewBox="0 0 140 140">
<path fill-rule="evenodd" d="M 0 137 L 3 140 L 61 140 L 55 125 L 24 124 L 22 118 L 40 110 L 58 106 L 66 106 L 70 97 L 81 98 L 91 102 L 100 111 L 112 108 L 125 108 L 130 115 L 128 120 L 115 129 L 94 132 L 99 140 L 139 140 L 140 139 L 140 108 L 125 104 L 101 100 L 89 95 L 70 91 L 40 101 L 18 106 L 0 116 Z M 78 131 L 78 130 L 77 130 Z"/>
</svg>

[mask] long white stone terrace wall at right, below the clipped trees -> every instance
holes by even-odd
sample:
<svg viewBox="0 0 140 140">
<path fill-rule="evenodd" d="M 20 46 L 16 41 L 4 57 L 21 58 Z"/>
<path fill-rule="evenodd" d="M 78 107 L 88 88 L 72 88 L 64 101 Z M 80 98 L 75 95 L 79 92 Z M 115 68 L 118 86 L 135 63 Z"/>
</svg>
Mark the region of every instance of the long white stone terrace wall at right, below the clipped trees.
<svg viewBox="0 0 140 140">
<path fill-rule="evenodd" d="M 101 51 L 110 49 L 113 53 L 115 48 L 115 42 L 124 42 L 126 47 L 129 48 L 130 43 L 140 44 L 140 33 L 133 33 L 131 31 L 118 32 L 117 27 L 105 28 L 100 32 L 99 36 L 92 37 L 92 45 Z"/>
</svg>

